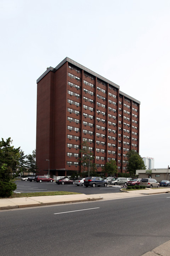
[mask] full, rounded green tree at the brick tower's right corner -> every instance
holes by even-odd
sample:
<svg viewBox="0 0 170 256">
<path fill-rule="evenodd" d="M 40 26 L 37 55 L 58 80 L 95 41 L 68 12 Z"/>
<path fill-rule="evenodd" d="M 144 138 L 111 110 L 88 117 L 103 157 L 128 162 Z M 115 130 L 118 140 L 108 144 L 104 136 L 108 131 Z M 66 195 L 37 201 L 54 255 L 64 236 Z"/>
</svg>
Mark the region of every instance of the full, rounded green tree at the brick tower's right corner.
<svg viewBox="0 0 170 256">
<path fill-rule="evenodd" d="M 126 154 L 126 171 L 129 172 L 131 176 L 136 175 L 136 170 L 146 170 L 146 166 L 143 162 L 143 159 L 141 156 L 135 151 L 135 150 L 130 150 Z"/>
</svg>

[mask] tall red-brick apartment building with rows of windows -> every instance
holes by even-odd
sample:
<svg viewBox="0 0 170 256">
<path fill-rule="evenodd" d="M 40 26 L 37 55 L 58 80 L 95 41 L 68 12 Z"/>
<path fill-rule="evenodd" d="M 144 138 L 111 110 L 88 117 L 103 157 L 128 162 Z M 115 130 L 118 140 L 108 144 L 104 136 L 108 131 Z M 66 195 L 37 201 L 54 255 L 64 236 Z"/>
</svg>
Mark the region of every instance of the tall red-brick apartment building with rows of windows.
<svg viewBox="0 0 170 256">
<path fill-rule="evenodd" d="M 36 161 L 38 171 L 63 176 L 80 171 L 86 140 L 97 171 L 115 159 L 124 172 L 125 154 L 139 151 L 140 102 L 119 86 L 65 58 L 37 80 Z M 49 161 L 46 161 L 49 160 Z"/>
</svg>

